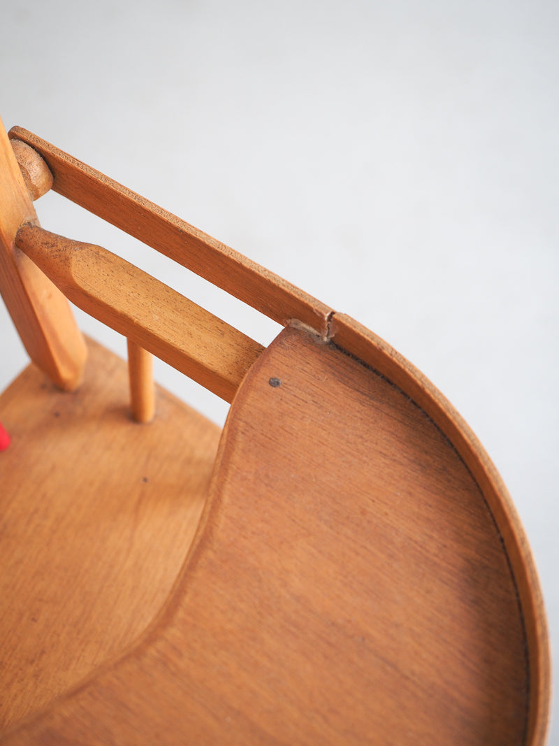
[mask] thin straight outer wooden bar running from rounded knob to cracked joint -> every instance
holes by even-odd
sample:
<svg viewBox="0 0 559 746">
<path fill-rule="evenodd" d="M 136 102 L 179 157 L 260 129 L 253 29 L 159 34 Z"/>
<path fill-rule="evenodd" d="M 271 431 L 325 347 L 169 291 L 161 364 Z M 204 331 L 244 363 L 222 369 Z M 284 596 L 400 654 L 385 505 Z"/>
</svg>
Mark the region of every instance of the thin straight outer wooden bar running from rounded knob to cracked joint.
<svg viewBox="0 0 559 746">
<path fill-rule="evenodd" d="M 198 228 L 20 127 L 10 138 L 46 161 L 53 189 L 196 272 L 279 324 L 298 319 L 325 336 L 331 309 Z"/>
</svg>

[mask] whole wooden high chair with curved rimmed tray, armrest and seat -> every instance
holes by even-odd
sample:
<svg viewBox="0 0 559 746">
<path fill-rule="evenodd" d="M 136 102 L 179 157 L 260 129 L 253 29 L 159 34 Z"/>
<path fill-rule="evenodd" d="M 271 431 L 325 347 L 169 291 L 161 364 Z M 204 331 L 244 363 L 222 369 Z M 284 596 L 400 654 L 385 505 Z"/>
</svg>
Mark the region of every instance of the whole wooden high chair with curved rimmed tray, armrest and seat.
<svg viewBox="0 0 559 746">
<path fill-rule="evenodd" d="M 0 289 L 33 361 L 0 396 L 1 742 L 542 744 L 534 563 L 435 387 L 28 131 L 0 151 Z M 285 328 L 262 348 L 44 231 L 49 188 Z M 64 296 L 127 337 L 128 371 Z M 231 403 L 223 432 L 154 399 L 151 353 Z"/>
</svg>

